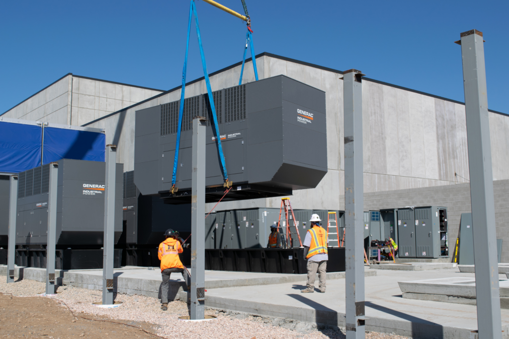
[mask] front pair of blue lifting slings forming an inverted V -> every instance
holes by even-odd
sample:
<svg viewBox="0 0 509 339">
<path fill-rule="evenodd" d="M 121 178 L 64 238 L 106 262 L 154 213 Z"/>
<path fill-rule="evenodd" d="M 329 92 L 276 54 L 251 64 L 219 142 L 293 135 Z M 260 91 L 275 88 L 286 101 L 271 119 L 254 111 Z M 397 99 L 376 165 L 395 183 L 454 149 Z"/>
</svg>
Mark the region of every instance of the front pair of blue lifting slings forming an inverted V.
<svg viewBox="0 0 509 339">
<path fill-rule="evenodd" d="M 202 66 L 203 66 L 203 73 L 205 74 L 205 83 L 207 84 L 207 94 L 209 97 L 209 103 L 210 103 L 210 109 L 212 111 L 212 118 L 213 118 L 213 125 L 215 128 L 215 137 L 217 140 L 217 147 L 219 151 L 219 159 L 221 160 L 221 170 L 223 174 L 223 178 L 225 181 L 225 186 L 229 187 L 231 184 L 228 184 L 228 172 L 226 170 L 226 164 L 224 162 L 224 155 L 222 151 L 222 145 L 221 145 L 221 138 L 219 134 L 219 126 L 217 123 L 217 115 L 216 115 L 216 108 L 214 104 L 214 98 L 212 96 L 212 87 L 210 86 L 210 79 L 209 79 L 209 73 L 207 72 L 207 64 L 205 63 L 205 53 L 203 51 L 202 46 L 202 37 L 200 34 L 200 25 L 198 23 L 198 15 L 196 14 L 196 5 L 194 4 L 194 0 L 191 0 L 191 8 L 189 9 L 189 21 L 187 25 L 187 40 L 186 40 L 186 56 L 184 60 L 184 70 L 182 71 L 182 91 L 180 93 L 180 108 L 179 108 L 179 126 L 177 130 L 177 144 L 175 146 L 175 159 L 173 162 L 173 175 L 172 175 L 172 194 L 176 192 L 175 188 L 175 182 L 177 179 L 177 165 L 179 161 L 179 146 L 180 146 L 180 131 L 182 129 L 182 116 L 184 112 L 184 95 L 185 95 L 185 85 L 186 85 L 186 69 L 187 69 L 187 54 L 189 50 L 189 33 L 191 30 L 191 18 L 194 14 L 194 23 L 196 24 L 196 35 L 198 36 L 198 44 L 200 45 L 200 55 L 202 57 Z M 258 80 L 258 76 L 257 76 Z"/>
</svg>

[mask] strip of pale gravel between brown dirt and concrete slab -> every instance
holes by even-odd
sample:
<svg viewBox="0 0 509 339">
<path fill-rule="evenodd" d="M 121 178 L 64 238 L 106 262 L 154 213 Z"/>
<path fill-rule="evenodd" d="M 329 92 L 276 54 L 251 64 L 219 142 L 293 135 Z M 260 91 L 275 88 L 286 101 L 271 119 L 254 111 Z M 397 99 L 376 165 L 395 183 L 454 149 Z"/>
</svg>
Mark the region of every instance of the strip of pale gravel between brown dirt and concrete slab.
<svg viewBox="0 0 509 339">
<path fill-rule="evenodd" d="M 14 296 L 37 296 L 43 293 L 45 284 L 22 280 L 13 284 L 0 281 L 0 291 L 12 293 Z M 179 316 L 188 315 L 188 306 L 181 301 L 168 304 L 168 311 L 161 311 L 159 299 L 119 294 L 116 301 L 122 305 L 116 309 L 101 309 L 92 305 L 101 301 L 101 291 L 87 290 L 72 286 L 58 288 L 58 294 L 51 299 L 65 302 L 77 316 L 100 317 L 122 320 L 127 324 L 140 322 L 154 324 L 155 334 L 165 338 L 213 338 L 213 339 L 343 339 L 344 329 L 331 327 L 317 327 L 290 319 L 253 316 L 240 312 L 207 309 L 206 315 L 215 315 L 217 319 L 204 322 L 185 322 Z M 65 307 L 63 305 L 63 307 Z M 149 336 L 150 337 L 150 336 Z M 154 336 L 152 336 L 154 337 Z M 405 339 L 406 337 L 367 332 L 366 338 L 373 339 Z"/>
</svg>

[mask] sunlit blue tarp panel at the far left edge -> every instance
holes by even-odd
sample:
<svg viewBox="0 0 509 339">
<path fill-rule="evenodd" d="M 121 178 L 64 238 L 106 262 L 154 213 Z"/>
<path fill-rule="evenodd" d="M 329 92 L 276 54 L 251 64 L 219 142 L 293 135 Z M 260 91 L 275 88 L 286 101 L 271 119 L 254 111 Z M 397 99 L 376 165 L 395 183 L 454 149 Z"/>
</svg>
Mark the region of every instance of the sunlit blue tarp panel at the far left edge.
<svg viewBox="0 0 509 339">
<path fill-rule="evenodd" d="M 41 144 L 41 127 L 0 122 L 0 172 L 19 173 L 40 166 Z"/>
</svg>

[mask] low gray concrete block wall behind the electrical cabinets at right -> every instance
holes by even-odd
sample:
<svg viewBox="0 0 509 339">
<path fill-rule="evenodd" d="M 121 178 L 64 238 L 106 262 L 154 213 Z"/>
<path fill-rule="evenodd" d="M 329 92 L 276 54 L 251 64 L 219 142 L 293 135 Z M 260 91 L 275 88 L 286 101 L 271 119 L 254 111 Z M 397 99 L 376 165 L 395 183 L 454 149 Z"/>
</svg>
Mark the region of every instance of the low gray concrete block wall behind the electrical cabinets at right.
<svg viewBox="0 0 509 339">
<path fill-rule="evenodd" d="M 509 180 L 493 181 L 495 198 L 495 227 L 497 238 L 502 239 L 501 262 L 509 262 Z M 456 239 L 460 229 L 461 213 L 472 211 L 470 184 L 364 193 L 364 210 L 399 208 L 405 206 L 447 207 L 449 256 L 454 257 Z M 345 196 L 340 196 L 340 209 L 345 208 Z M 461 245 L 460 245 L 461 246 Z"/>
</svg>

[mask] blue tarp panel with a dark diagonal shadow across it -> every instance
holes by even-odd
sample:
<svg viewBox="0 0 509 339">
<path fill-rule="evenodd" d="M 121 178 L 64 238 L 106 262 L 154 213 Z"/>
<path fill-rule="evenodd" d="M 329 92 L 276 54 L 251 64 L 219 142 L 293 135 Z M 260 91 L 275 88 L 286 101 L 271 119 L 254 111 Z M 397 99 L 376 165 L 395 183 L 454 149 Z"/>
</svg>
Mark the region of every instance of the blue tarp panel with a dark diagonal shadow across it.
<svg viewBox="0 0 509 339">
<path fill-rule="evenodd" d="M 103 133 L 46 127 L 42 163 L 60 159 L 104 161 L 105 147 Z"/>
</svg>

